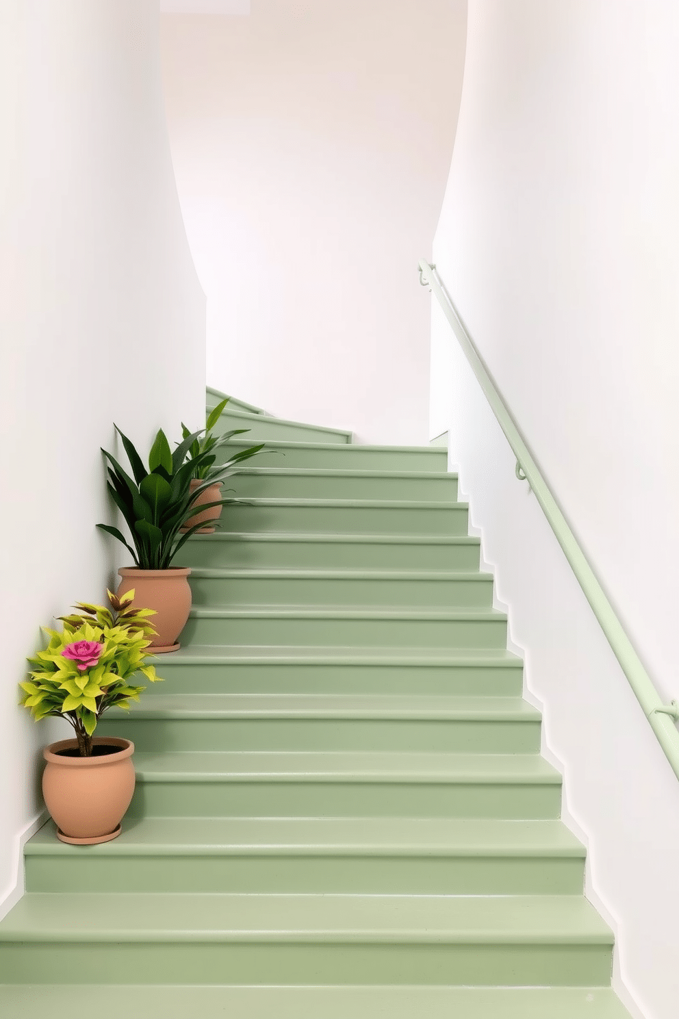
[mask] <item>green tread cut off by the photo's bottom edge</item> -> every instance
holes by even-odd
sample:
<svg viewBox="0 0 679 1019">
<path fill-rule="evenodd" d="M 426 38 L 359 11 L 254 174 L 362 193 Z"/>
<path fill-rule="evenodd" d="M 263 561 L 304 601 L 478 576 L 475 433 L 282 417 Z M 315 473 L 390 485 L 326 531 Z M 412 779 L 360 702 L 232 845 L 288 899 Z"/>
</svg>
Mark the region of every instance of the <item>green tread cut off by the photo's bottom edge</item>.
<svg viewBox="0 0 679 1019">
<path fill-rule="evenodd" d="M 0 1006 L 5 1019 L 629 1019 L 601 987 L 9 984 Z"/>
</svg>

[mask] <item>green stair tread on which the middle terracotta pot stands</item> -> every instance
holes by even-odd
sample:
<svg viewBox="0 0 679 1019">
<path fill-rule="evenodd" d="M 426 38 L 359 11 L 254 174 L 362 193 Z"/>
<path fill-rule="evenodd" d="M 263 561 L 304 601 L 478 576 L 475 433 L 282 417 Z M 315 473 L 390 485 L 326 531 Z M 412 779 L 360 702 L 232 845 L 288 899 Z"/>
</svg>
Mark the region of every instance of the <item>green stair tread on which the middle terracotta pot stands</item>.
<svg viewBox="0 0 679 1019">
<path fill-rule="evenodd" d="M 470 665 L 520 668 L 518 655 L 505 648 L 419 648 L 351 647 L 323 644 L 189 644 L 169 654 L 156 657 L 156 667 L 184 664 L 219 664 L 234 662 L 297 663 L 314 662 L 342 664 L 392 665 Z"/>
</svg>

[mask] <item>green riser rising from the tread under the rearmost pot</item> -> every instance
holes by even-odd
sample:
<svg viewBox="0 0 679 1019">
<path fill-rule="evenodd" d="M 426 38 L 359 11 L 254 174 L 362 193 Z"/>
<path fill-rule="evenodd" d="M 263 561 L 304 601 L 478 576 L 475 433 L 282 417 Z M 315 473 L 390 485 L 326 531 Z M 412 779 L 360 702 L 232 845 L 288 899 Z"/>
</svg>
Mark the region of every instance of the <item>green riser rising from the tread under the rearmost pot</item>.
<svg viewBox="0 0 679 1019">
<path fill-rule="evenodd" d="M 222 531 L 312 534 L 466 535 L 467 507 L 399 505 L 250 505 L 226 506 Z"/>
</svg>

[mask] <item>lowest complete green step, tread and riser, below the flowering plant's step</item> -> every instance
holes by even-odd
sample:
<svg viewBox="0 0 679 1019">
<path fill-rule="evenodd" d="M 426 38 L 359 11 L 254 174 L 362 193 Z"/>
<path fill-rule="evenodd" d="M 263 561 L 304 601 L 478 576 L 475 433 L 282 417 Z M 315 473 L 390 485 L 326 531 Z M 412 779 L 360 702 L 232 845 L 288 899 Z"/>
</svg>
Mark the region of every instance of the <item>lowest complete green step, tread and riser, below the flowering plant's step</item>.
<svg viewBox="0 0 679 1019">
<path fill-rule="evenodd" d="M 27 893 L 12 982 L 600 986 L 613 935 L 582 896 Z"/>
</svg>

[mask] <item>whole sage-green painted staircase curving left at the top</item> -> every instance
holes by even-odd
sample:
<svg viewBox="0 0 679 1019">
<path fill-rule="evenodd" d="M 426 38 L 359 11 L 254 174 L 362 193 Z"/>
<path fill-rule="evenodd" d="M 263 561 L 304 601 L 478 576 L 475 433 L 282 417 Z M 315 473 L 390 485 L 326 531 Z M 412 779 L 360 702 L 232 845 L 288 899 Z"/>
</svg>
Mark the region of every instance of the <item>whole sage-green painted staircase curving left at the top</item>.
<svg viewBox="0 0 679 1019">
<path fill-rule="evenodd" d="M 3 1019 L 628 1017 L 446 449 L 222 421 L 267 449 L 187 545 L 165 683 L 102 722 L 123 834 L 25 847 Z"/>
</svg>

